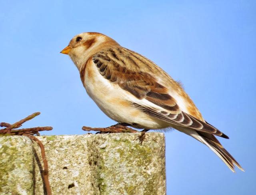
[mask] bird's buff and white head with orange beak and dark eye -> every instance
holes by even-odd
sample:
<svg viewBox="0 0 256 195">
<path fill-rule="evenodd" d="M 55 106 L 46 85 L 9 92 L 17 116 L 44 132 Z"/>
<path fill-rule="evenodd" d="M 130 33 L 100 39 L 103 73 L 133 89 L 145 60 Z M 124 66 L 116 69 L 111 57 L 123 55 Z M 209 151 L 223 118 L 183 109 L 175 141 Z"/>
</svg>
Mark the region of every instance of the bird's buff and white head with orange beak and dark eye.
<svg viewBox="0 0 256 195">
<path fill-rule="evenodd" d="M 68 46 L 60 53 L 68 54 L 77 68 L 80 69 L 90 56 L 112 45 L 119 44 L 104 34 L 98 32 L 84 32 L 74 36 Z"/>
</svg>

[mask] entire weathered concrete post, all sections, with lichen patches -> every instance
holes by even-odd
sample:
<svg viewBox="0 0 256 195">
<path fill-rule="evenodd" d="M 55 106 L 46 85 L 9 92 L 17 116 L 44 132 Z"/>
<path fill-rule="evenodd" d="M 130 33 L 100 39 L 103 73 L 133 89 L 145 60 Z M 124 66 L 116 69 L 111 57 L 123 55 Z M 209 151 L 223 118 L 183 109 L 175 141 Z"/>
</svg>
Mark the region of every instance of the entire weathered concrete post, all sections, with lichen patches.
<svg viewBox="0 0 256 195">
<path fill-rule="evenodd" d="M 138 135 L 38 136 L 46 150 L 52 194 L 165 195 L 164 134 L 146 133 L 142 145 Z M 29 138 L 0 136 L 0 194 L 45 194 L 33 147 L 42 163 L 40 148 Z"/>
</svg>

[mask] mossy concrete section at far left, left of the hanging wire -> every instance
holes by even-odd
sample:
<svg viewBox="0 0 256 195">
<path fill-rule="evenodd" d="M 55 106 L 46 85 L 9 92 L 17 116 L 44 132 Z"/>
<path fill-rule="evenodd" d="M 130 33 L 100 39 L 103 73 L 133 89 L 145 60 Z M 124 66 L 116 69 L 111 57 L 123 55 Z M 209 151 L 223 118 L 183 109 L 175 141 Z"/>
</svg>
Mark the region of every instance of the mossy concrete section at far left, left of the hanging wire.
<svg viewBox="0 0 256 195">
<path fill-rule="evenodd" d="M 32 141 L 25 136 L 0 136 L 0 195 L 33 194 Z"/>
</svg>

